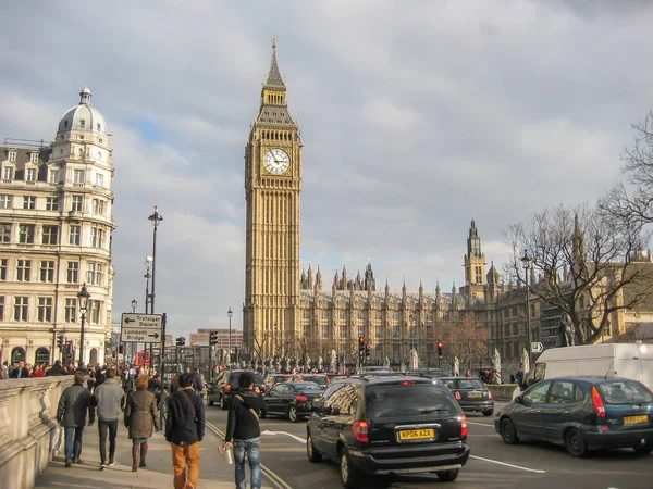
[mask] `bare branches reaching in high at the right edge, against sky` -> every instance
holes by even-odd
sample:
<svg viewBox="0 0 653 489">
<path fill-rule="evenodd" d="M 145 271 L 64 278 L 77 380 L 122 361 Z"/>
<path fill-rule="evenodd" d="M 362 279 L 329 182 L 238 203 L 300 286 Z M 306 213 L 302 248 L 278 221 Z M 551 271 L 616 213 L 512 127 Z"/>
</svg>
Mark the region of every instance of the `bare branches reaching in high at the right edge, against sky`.
<svg viewBox="0 0 653 489">
<path fill-rule="evenodd" d="M 653 111 L 632 124 L 632 129 L 633 146 L 621 152 L 621 170 L 630 185 L 617 184 L 599 205 L 613 217 L 642 228 L 653 223 Z"/>
</svg>

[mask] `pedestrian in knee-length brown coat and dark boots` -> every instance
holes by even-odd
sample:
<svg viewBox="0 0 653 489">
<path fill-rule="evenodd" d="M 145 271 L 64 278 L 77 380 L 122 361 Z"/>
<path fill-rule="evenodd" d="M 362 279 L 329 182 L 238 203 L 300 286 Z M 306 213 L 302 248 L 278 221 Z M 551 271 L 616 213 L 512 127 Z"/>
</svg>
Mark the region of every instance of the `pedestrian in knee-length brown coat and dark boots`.
<svg viewBox="0 0 653 489">
<path fill-rule="evenodd" d="M 127 397 L 125 408 L 125 426 L 130 428 L 132 440 L 132 472 L 146 467 L 147 439 L 152 436 L 152 426 L 157 431 L 160 429 L 157 397 L 147 390 L 147 375 L 138 377 L 136 391 Z"/>
</svg>

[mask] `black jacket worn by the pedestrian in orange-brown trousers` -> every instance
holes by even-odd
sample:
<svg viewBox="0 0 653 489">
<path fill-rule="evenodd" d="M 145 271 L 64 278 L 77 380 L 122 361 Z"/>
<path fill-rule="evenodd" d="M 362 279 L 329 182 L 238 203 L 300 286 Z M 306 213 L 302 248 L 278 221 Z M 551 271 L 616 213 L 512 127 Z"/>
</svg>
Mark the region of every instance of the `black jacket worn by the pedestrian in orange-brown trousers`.
<svg viewBox="0 0 653 489">
<path fill-rule="evenodd" d="M 195 411 L 195 415 L 193 415 Z M 204 439 L 204 402 L 193 389 L 180 390 L 168 399 L 165 440 L 174 444 L 193 444 Z"/>
</svg>

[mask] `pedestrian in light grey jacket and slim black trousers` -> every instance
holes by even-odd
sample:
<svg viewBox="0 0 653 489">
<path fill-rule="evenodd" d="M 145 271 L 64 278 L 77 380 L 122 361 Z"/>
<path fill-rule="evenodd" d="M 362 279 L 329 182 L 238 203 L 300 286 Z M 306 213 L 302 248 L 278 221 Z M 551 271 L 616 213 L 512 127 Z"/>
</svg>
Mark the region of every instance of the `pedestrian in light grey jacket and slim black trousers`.
<svg viewBox="0 0 653 489">
<path fill-rule="evenodd" d="M 124 396 L 115 378 L 115 371 L 107 371 L 107 379 L 96 387 L 93 397 L 98 409 L 98 430 L 100 434 L 100 471 L 107 467 L 107 431 L 109 431 L 109 466 L 115 464 L 115 437 L 118 421 L 122 414 Z"/>
</svg>

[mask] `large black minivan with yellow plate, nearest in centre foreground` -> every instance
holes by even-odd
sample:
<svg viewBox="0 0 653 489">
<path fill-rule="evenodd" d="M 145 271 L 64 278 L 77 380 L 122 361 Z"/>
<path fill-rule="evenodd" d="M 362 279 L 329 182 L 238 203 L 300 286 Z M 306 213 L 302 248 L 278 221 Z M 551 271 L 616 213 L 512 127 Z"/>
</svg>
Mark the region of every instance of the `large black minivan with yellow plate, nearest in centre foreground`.
<svg viewBox="0 0 653 489">
<path fill-rule="evenodd" d="M 307 455 L 336 461 L 346 488 L 365 474 L 435 473 L 452 481 L 467 463 L 467 418 L 441 383 L 422 377 L 334 380 L 307 423 Z"/>
</svg>

